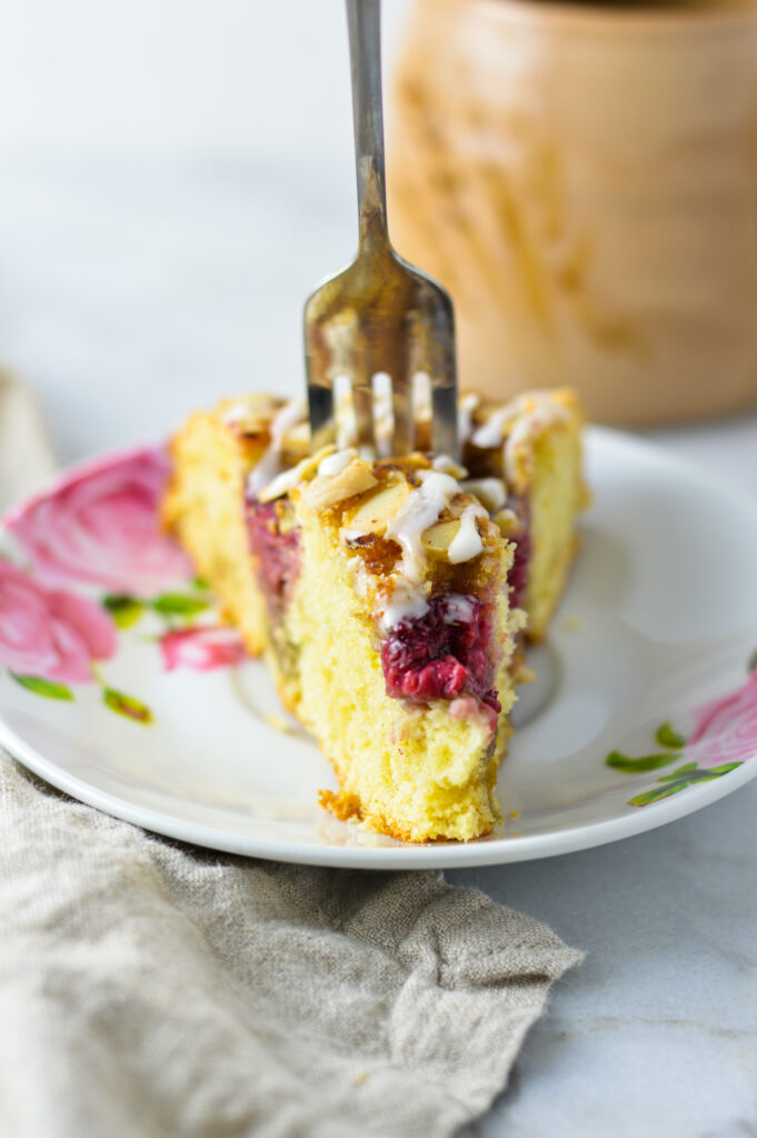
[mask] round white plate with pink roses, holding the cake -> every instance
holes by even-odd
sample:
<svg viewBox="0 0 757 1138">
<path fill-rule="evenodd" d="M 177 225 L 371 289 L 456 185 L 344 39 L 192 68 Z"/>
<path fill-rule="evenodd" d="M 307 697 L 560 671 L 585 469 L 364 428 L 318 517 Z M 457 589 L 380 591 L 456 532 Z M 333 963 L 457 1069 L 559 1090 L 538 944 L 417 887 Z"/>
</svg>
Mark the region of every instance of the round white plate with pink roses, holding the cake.
<svg viewBox="0 0 757 1138">
<path fill-rule="evenodd" d="M 530 657 L 540 678 L 521 692 L 500 774 L 502 833 L 410 846 L 318 807 L 335 787 L 328 764 L 281 729 L 263 667 L 234 662 L 233 636 L 208 632 L 201 583 L 158 534 L 159 451 L 80 468 L 8 519 L 0 741 L 148 830 L 320 865 L 519 861 L 698 810 L 757 775 L 757 509 L 611 431 L 589 432 L 587 461 L 594 504 Z"/>
</svg>

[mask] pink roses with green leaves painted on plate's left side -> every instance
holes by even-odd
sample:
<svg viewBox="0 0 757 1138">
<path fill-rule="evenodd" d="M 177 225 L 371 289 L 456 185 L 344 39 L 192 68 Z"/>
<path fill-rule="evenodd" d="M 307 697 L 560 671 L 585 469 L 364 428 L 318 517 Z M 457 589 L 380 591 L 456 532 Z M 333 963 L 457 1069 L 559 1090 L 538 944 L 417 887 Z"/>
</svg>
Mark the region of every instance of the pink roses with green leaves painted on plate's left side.
<svg viewBox="0 0 757 1138">
<path fill-rule="evenodd" d="M 150 723 L 150 709 L 108 685 L 97 667 L 116 653 L 118 630 L 148 611 L 164 626 L 155 638 L 167 670 L 207 670 L 244 659 L 236 632 L 195 626 L 211 597 L 162 530 L 168 472 L 161 448 L 102 460 L 7 520 L 31 569 L 0 556 L 0 665 L 28 691 L 73 700 L 69 684 L 94 682 L 110 710 Z M 61 587 L 72 585 L 96 591 L 100 603 Z"/>
</svg>

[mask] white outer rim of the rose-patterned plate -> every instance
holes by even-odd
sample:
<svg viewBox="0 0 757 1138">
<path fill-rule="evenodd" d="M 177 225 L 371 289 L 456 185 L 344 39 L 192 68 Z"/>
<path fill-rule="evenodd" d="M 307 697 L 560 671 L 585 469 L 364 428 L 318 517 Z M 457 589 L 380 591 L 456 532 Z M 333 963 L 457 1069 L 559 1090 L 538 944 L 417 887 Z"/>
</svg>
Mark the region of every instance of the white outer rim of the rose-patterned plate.
<svg viewBox="0 0 757 1138">
<path fill-rule="evenodd" d="M 690 459 L 670 453 L 664 446 L 631 432 L 607 427 L 590 426 L 587 439 L 607 445 L 614 440 L 626 448 L 663 462 L 672 472 L 694 480 L 706 480 L 710 489 L 730 498 L 739 509 L 754 516 L 757 523 L 757 503 L 738 487 L 717 475 L 710 476 Z M 71 464 L 35 494 L 13 506 L 0 519 L 0 536 L 8 523 L 30 503 L 44 498 L 72 479 L 96 470 L 102 462 L 118 462 L 155 444 L 134 444 L 104 452 Z M 164 445 L 164 444 L 158 444 Z M 633 838 L 647 831 L 676 822 L 713 802 L 734 793 L 757 777 L 757 754 L 744 761 L 724 778 L 689 786 L 685 794 L 674 795 L 652 803 L 651 808 L 635 809 L 627 815 L 604 818 L 582 825 L 568 825 L 548 833 L 509 838 L 484 838 L 472 842 L 403 843 L 397 846 L 361 846 L 308 843 L 272 838 L 254 838 L 216 830 L 205 823 L 187 822 L 175 815 L 138 806 L 109 791 L 100 790 L 87 780 L 61 768 L 55 759 L 47 758 L 27 743 L 8 723 L 0 710 L 0 747 L 11 759 L 31 770 L 57 790 L 122 822 L 139 826 L 155 836 L 165 836 L 206 849 L 263 860 L 288 861 L 298 865 L 360 869 L 452 869 L 486 865 L 507 865 L 540 860 L 565 853 L 578 852 Z M 507 759 L 505 759 L 507 761 Z"/>
</svg>

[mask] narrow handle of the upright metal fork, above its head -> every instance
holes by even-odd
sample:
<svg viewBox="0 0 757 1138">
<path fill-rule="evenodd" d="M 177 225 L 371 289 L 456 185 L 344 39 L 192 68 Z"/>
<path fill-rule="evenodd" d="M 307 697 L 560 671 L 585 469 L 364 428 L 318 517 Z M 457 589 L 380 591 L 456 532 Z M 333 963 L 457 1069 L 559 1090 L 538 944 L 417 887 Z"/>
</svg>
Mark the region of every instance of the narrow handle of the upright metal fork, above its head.
<svg viewBox="0 0 757 1138">
<path fill-rule="evenodd" d="M 370 231 L 372 238 L 384 238 L 388 245 L 381 112 L 381 0 L 346 0 L 346 5 L 360 239 L 362 245 Z"/>
</svg>

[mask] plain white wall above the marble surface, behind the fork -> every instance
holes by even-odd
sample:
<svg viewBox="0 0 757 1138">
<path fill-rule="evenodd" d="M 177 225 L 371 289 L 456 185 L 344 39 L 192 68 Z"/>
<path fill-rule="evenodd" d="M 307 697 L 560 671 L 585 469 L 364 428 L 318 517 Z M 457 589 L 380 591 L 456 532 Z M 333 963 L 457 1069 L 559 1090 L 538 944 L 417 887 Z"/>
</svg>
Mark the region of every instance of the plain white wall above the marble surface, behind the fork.
<svg viewBox="0 0 757 1138">
<path fill-rule="evenodd" d="M 390 49 L 405 0 L 385 0 Z M 351 162 L 339 0 L 0 6 L 0 154 Z"/>
</svg>

